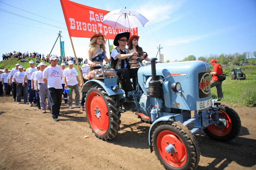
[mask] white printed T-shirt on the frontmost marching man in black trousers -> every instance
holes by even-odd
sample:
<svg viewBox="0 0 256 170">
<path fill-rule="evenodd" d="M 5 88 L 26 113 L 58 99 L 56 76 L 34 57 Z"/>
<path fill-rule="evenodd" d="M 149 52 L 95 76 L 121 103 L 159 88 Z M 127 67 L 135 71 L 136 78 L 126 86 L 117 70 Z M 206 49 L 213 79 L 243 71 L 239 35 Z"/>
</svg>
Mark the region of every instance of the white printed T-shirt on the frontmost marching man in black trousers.
<svg viewBox="0 0 256 170">
<path fill-rule="evenodd" d="M 52 67 L 49 65 L 44 69 L 43 78 L 47 78 L 47 87 L 48 88 L 55 88 L 55 89 L 62 89 L 61 85 L 61 78 L 63 77 L 62 70 L 60 66 Z"/>
</svg>

